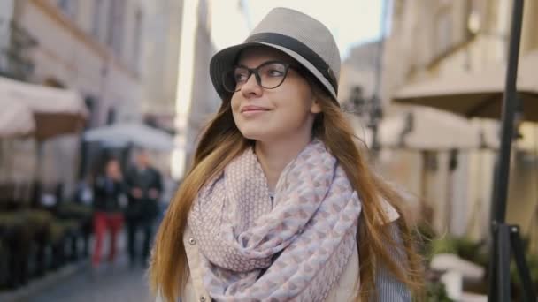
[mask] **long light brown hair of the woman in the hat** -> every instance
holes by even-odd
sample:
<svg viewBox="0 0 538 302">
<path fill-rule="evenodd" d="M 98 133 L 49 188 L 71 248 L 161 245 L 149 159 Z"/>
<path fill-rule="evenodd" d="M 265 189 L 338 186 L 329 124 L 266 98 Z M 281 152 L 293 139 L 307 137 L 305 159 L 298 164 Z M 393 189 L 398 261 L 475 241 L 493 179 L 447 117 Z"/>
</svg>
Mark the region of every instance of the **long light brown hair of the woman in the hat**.
<svg viewBox="0 0 538 302">
<path fill-rule="evenodd" d="M 312 134 L 336 157 L 362 202 L 357 231 L 360 259 L 357 301 L 375 298 L 375 276 L 380 269 L 387 269 L 411 289 L 416 299 L 423 299 L 421 259 L 415 248 L 414 229 L 406 218 L 403 197 L 370 170 L 365 145 L 355 136 L 342 109 L 320 88 L 317 79 L 301 73 L 310 83 L 321 107 L 312 125 Z M 204 129 L 192 167 L 159 227 L 150 265 L 150 286 L 154 294 L 159 291 L 167 301 L 176 301 L 181 296 L 189 274 L 183 233 L 193 200 L 208 179 L 219 175 L 252 143 L 235 125 L 230 100 L 224 100 Z M 400 215 L 395 223 L 388 222 L 382 200 L 387 200 Z M 395 231 L 400 234 L 398 240 L 395 240 Z"/>
</svg>

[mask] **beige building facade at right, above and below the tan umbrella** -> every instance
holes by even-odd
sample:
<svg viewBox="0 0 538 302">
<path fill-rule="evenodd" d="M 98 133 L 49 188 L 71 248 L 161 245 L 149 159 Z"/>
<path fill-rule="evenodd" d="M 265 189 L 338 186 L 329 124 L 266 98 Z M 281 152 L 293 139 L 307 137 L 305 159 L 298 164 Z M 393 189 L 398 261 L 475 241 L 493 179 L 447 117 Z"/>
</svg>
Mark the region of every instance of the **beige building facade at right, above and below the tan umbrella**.
<svg viewBox="0 0 538 302">
<path fill-rule="evenodd" d="M 394 1 L 392 27 L 384 54 L 387 67 L 383 73 L 383 95 L 389 99 L 407 84 L 480 72 L 490 65 L 505 63 L 511 5 L 509 0 Z M 538 49 L 536 26 L 538 3 L 526 1 L 520 56 Z M 490 130 L 497 131 L 496 123 L 487 124 Z M 523 133 L 524 138 L 532 137 L 529 134 Z M 430 202 L 435 212 L 441 213 L 448 208 L 457 214 L 452 215 L 451 222 L 441 216 L 436 217 L 439 219 L 434 217 L 435 222 L 441 222 L 437 229 L 444 227 L 446 230 L 446 224 L 450 223 L 452 233 L 486 238 L 496 151 L 461 152 L 457 155 L 458 165 L 454 171 L 450 171 L 449 151 L 427 155 L 430 164 L 422 160 L 423 156 L 414 153 L 399 161 L 415 162 L 412 166 L 420 167 L 405 177 L 426 179 L 426 184 L 424 181 L 414 182 L 422 186 L 429 183 L 430 189 L 426 193 L 419 187 L 413 191 L 425 193 L 421 197 Z M 507 220 L 527 225 L 532 220 L 535 198 L 528 181 L 522 177 L 528 180 L 535 172 L 521 170 L 524 165 L 518 163 L 518 157 L 525 156 L 514 157 Z M 424 177 L 425 173 L 430 176 Z M 414 176 L 410 177 L 410 174 Z M 450 176 L 452 181 L 449 181 Z"/>
</svg>

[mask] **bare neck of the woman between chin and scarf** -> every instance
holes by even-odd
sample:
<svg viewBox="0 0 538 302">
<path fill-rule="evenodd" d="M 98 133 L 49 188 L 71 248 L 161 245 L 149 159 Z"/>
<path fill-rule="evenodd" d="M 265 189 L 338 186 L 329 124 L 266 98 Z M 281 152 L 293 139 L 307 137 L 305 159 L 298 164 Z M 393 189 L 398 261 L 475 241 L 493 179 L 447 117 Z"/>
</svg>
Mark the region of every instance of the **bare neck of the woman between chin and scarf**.
<svg viewBox="0 0 538 302">
<path fill-rule="evenodd" d="M 257 160 L 262 166 L 262 170 L 264 170 L 270 192 L 274 191 L 279 177 L 281 177 L 282 170 L 284 170 L 288 163 L 294 160 L 309 143 L 310 139 L 286 140 L 281 142 L 256 141 L 254 152 L 257 155 Z"/>
</svg>

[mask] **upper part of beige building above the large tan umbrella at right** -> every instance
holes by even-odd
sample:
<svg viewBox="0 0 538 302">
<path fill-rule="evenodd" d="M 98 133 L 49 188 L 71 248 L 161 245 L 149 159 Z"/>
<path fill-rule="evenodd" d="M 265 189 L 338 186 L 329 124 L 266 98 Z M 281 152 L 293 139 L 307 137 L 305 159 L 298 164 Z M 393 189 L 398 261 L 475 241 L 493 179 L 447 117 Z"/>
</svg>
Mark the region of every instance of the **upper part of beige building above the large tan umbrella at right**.
<svg viewBox="0 0 538 302">
<path fill-rule="evenodd" d="M 508 55 L 510 0 L 395 1 L 383 90 L 502 64 Z M 526 1 L 520 55 L 538 48 L 538 4 Z"/>
</svg>

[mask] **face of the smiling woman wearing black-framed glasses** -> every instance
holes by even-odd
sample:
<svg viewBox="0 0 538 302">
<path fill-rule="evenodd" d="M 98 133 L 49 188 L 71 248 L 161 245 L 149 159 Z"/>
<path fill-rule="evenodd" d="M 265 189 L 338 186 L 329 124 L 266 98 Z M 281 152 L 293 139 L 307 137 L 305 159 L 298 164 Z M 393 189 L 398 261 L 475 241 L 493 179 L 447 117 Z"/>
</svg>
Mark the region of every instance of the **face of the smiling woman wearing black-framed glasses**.
<svg viewBox="0 0 538 302">
<path fill-rule="evenodd" d="M 309 138 L 315 114 L 321 110 L 310 85 L 293 68 L 293 59 L 276 49 L 257 47 L 245 49 L 237 65 L 252 69 L 269 61 L 292 66 L 279 87 L 260 87 L 253 74 L 242 84 L 231 101 L 235 125 L 250 140 Z"/>
</svg>

